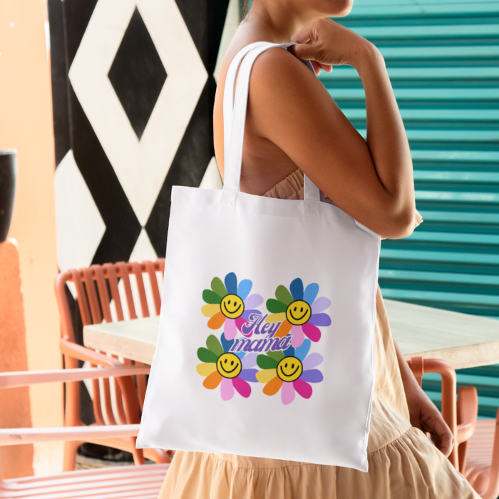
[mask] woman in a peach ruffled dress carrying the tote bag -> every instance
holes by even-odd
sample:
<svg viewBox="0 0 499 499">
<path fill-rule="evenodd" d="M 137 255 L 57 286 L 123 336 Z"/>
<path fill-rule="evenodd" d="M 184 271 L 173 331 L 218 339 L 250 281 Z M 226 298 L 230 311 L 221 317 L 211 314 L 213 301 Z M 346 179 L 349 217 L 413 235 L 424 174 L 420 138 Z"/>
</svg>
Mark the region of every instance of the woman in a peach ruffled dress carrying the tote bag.
<svg viewBox="0 0 499 499">
<path fill-rule="evenodd" d="M 255 41 L 296 42 L 254 63 L 245 128 L 241 190 L 303 197 L 303 173 L 329 200 L 382 237 L 407 237 L 421 222 L 411 153 L 384 64 L 371 43 L 327 17 L 346 16 L 353 0 L 254 0 L 220 69 L 214 108 L 215 153 L 223 176 L 222 101 L 232 58 Z M 366 93 L 367 141 L 316 76 L 354 66 Z M 369 472 L 264 458 L 178 452 L 162 499 L 478 498 L 446 459 L 453 436 L 419 388 L 391 337 L 378 289 L 376 381 Z M 436 447 L 421 432 L 432 434 Z"/>
</svg>

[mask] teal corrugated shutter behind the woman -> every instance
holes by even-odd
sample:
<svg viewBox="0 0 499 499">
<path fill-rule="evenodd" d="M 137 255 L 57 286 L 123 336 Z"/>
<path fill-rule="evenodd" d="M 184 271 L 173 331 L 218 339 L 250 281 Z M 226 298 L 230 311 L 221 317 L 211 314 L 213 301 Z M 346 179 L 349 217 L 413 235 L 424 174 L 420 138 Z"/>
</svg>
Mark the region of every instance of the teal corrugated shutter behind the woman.
<svg viewBox="0 0 499 499">
<path fill-rule="evenodd" d="M 411 145 L 424 222 L 382 243 L 384 297 L 499 319 L 499 1 L 356 0 L 335 20 L 384 55 Z M 356 71 L 320 79 L 365 136 Z M 495 416 L 499 368 L 487 369 L 459 381 Z"/>
</svg>

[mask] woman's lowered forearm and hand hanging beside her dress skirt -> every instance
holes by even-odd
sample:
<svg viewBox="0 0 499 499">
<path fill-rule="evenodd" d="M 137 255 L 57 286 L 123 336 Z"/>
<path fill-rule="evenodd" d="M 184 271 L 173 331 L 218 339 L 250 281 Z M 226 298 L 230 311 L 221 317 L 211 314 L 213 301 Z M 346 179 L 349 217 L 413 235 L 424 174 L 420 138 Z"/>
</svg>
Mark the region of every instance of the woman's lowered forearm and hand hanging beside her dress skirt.
<svg viewBox="0 0 499 499">
<path fill-rule="evenodd" d="M 433 443 L 448 457 L 454 446 L 454 437 L 451 430 L 446 422 L 443 421 L 442 415 L 435 404 L 418 385 L 396 341 L 393 340 L 393 343 L 395 344 L 397 353 L 403 389 L 406 392 L 411 425 L 416 426 L 416 428 L 422 431 L 431 433 Z"/>
</svg>

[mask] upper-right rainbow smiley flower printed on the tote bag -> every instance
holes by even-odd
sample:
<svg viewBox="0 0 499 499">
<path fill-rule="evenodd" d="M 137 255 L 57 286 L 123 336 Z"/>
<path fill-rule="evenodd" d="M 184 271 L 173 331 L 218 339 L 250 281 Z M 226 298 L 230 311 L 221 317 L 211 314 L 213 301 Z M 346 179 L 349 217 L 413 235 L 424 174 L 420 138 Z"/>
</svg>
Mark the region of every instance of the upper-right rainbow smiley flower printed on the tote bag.
<svg viewBox="0 0 499 499">
<path fill-rule="evenodd" d="M 275 297 L 267 300 L 267 310 L 271 314 L 266 322 L 282 322 L 274 336 L 282 338 L 291 334 L 291 346 L 297 348 L 304 341 L 304 336 L 312 341 L 321 339 L 318 326 L 330 326 L 331 318 L 323 314 L 331 302 L 326 297 L 317 298 L 319 284 L 312 282 L 303 289 L 302 279 L 294 279 L 289 290 L 277 287 Z"/>
</svg>

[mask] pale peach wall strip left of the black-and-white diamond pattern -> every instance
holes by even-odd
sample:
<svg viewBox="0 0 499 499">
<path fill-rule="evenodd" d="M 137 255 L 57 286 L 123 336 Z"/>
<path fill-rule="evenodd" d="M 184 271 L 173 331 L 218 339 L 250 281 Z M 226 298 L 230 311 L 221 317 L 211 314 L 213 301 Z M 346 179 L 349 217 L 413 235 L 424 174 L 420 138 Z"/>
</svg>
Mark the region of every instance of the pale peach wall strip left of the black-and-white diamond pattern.
<svg viewBox="0 0 499 499">
<path fill-rule="evenodd" d="M 0 148 L 18 150 L 9 237 L 19 243 L 30 370 L 61 368 L 46 19 L 44 0 L 0 0 Z M 33 386 L 30 399 L 33 426 L 63 425 L 61 384 Z M 60 443 L 34 446 L 35 473 L 61 469 Z"/>
</svg>

